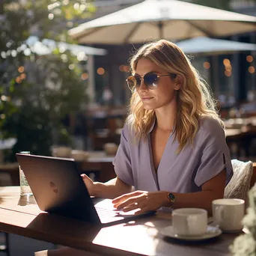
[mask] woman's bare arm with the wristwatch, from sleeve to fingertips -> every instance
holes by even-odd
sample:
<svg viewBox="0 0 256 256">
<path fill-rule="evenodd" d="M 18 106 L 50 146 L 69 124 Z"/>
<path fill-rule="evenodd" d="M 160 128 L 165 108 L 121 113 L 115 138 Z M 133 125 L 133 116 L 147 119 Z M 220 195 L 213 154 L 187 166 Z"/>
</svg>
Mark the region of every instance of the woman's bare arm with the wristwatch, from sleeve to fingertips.
<svg viewBox="0 0 256 256">
<path fill-rule="evenodd" d="M 225 190 L 225 170 L 217 174 L 211 180 L 202 185 L 201 192 L 192 193 L 175 193 L 175 202 L 171 207 L 198 207 L 204 208 L 209 213 L 212 212 L 212 201 L 217 198 L 223 198 Z M 167 191 L 145 192 L 135 191 L 127 195 L 121 195 L 113 200 L 114 206 L 118 210 L 128 212 L 138 209 L 137 214 L 144 213 L 149 210 L 157 210 L 160 207 L 169 207 Z"/>
</svg>

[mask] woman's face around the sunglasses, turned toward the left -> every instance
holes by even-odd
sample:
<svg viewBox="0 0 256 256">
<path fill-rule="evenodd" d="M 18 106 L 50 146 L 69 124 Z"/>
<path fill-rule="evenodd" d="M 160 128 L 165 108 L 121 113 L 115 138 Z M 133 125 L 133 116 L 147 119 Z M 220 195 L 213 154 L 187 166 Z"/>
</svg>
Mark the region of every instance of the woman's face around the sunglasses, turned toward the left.
<svg viewBox="0 0 256 256">
<path fill-rule="evenodd" d="M 162 68 L 158 67 L 147 58 L 141 58 L 138 60 L 135 76 L 141 76 L 143 78 L 147 73 L 156 73 L 161 77 L 159 77 L 157 88 L 154 90 L 147 88 L 144 84 L 144 80 L 141 79 L 141 85 L 137 88 L 137 92 L 141 98 L 144 109 L 160 109 L 176 103 L 175 94 L 180 86 L 175 83 L 175 79 L 171 79 L 171 76 L 162 76 L 168 75 L 168 72 L 162 70 Z"/>
</svg>

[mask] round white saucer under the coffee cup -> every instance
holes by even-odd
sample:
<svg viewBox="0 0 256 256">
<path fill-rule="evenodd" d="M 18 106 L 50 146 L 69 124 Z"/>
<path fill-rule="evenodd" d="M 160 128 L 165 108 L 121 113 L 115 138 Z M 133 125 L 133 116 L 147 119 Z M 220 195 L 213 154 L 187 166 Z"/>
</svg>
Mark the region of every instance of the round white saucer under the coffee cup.
<svg viewBox="0 0 256 256">
<path fill-rule="evenodd" d="M 207 232 L 200 236 L 180 236 L 178 234 L 174 234 L 174 230 L 172 226 L 168 226 L 166 228 L 163 228 L 162 231 L 160 231 L 162 235 L 165 237 L 171 237 L 177 240 L 186 240 L 186 241 L 201 241 L 201 240 L 207 240 L 213 237 L 218 237 L 222 234 L 222 231 L 218 227 L 213 226 L 207 226 Z"/>
</svg>

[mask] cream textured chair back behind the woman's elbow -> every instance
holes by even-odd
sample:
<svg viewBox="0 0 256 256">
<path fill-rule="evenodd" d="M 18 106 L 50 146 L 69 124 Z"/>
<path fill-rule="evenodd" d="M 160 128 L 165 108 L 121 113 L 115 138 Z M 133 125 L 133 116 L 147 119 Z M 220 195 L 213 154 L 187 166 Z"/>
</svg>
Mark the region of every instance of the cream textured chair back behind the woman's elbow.
<svg viewBox="0 0 256 256">
<path fill-rule="evenodd" d="M 224 198 L 240 198 L 248 203 L 248 192 L 253 174 L 252 161 L 243 162 L 237 159 L 231 160 L 233 177 L 225 187 Z"/>
</svg>

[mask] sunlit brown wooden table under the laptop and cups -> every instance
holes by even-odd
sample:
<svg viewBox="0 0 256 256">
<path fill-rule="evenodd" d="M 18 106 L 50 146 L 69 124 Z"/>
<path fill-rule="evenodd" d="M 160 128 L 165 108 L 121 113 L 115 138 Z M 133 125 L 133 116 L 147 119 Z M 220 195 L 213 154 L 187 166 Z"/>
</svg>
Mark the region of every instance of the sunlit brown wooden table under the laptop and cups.
<svg viewBox="0 0 256 256">
<path fill-rule="evenodd" d="M 43 213 L 34 203 L 19 198 L 19 187 L 0 188 L 0 230 L 49 243 L 96 252 L 100 255 L 197 255 L 228 256 L 236 234 L 213 240 L 184 243 L 163 237 L 159 231 L 171 225 L 171 214 L 101 228 L 61 216 Z"/>
</svg>

